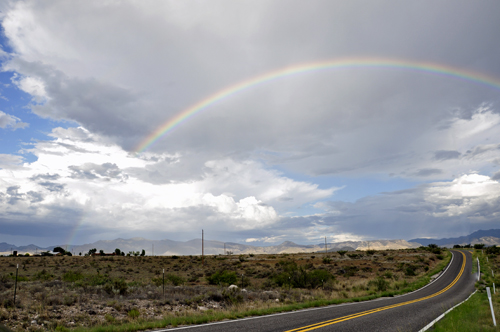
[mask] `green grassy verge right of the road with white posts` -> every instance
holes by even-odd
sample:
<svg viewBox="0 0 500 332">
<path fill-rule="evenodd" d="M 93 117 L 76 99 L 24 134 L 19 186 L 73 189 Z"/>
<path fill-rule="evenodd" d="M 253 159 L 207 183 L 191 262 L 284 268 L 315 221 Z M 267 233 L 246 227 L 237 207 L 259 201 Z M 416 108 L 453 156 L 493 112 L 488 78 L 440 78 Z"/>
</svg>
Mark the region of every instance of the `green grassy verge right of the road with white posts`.
<svg viewBox="0 0 500 332">
<path fill-rule="evenodd" d="M 500 331 L 500 294 L 498 289 L 500 283 L 500 247 L 483 248 L 476 245 L 476 249 L 465 250 L 474 251 L 473 273 L 477 272 L 476 258 L 479 258 L 481 279 L 476 282 L 477 292 L 468 301 L 449 312 L 430 331 Z M 496 286 L 496 294 L 493 293 L 493 283 Z M 497 327 L 493 326 L 486 287 L 490 287 Z"/>
</svg>

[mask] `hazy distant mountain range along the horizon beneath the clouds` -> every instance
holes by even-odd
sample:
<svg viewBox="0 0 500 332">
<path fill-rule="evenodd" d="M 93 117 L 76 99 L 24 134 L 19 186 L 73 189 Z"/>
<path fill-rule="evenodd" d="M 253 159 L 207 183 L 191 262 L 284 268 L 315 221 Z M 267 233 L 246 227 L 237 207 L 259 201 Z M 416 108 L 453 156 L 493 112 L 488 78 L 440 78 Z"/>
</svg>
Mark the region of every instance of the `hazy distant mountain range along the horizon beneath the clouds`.
<svg viewBox="0 0 500 332">
<path fill-rule="evenodd" d="M 441 247 L 453 247 L 455 244 L 476 244 L 484 243 L 486 245 L 500 245 L 500 229 L 479 230 L 467 236 L 448 239 L 412 239 L 405 240 L 375 240 L 375 241 L 345 241 L 328 243 L 328 251 L 339 250 L 383 250 L 383 249 L 407 249 L 417 248 L 421 245 L 427 246 L 431 243 Z M 116 248 L 128 253 L 130 251 L 146 251 L 146 255 L 199 255 L 201 254 L 201 239 L 190 241 L 173 240 L 148 240 L 144 238 L 100 240 L 94 243 L 84 245 L 54 245 L 49 247 L 38 247 L 33 244 L 28 246 L 15 246 L 9 243 L 0 243 L 0 255 L 7 255 L 11 250 L 16 250 L 19 254 L 53 250 L 55 247 L 67 248 L 75 255 L 82 253 L 84 255 L 90 249 L 96 248 L 98 251 L 114 252 Z M 225 251 L 224 251 L 225 250 Z M 233 242 L 209 241 L 205 240 L 204 252 L 206 255 L 218 255 L 225 252 L 231 252 L 234 255 L 239 254 L 280 254 L 280 253 L 312 253 L 324 252 L 325 244 L 301 245 L 294 242 L 285 241 L 275 246 L 252 246 Z"/>
</svg>

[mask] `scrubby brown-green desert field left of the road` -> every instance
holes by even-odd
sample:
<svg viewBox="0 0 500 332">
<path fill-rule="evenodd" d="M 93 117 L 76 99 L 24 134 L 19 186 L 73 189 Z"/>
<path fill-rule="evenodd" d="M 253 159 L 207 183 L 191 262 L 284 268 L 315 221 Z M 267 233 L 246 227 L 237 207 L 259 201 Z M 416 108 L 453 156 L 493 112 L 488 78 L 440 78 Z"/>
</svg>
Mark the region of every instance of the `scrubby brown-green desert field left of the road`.
<svg viewBox="0 0 500 332">
<path fill-rule="evenodd" d="M 431 246 L 206 256 L 204 266 L 200 256 L 0 257 L 0 323 L 138 331 L 363 301 L 424 286 L 450 256 Z"/>
</svg>

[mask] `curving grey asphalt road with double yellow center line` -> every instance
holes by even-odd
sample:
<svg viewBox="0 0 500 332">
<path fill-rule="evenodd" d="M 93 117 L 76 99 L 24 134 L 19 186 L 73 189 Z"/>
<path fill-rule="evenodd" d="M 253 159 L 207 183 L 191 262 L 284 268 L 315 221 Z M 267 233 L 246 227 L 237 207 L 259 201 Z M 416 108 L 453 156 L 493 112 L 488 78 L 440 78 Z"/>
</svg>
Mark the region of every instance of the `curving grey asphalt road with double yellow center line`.
<svg viewBox="0 0 500 332">
<path fill-rule="evenodd" d="M 157 332 L 419 331 L 474 291 L 477 275 L 471 272 L 471 254 L 451 252 L 452 261 L 438 279 L 406 295 Z"/>
</svg>

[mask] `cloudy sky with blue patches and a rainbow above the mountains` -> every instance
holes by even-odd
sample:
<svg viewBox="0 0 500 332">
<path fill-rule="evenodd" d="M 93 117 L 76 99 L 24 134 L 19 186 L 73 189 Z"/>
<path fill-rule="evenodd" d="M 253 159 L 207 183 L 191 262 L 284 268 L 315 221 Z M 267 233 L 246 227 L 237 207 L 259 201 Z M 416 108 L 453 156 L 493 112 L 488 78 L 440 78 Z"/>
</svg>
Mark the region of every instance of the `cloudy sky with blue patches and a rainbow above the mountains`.
<svg viewBox="0 0 500 332">
<path fill-rule="evenodd" d="M 498 1 L 3 1 L 0 242 L 500 228 Z"/>
</svg>

